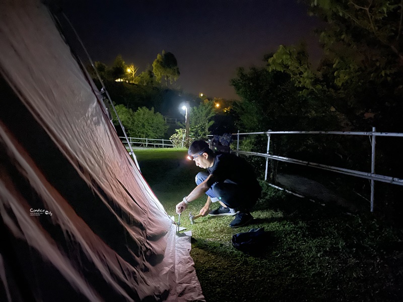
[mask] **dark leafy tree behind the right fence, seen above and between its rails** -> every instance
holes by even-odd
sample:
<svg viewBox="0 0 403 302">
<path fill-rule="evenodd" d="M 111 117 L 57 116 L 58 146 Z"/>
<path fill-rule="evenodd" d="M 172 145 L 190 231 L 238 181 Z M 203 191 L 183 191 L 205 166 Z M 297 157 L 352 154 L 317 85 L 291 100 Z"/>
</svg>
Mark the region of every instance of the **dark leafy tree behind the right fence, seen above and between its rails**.
<svg viewBox="0 0 403 302">
<path fill-rule="evenodd" d="M 241 100 L 234 104 L 237 125 L 241 132 L 267 130 L 333 130 L 338 118 L 322 99 L 301 93 L 291 75 L 285 71 L 251 67 L 239 68 L 237 77 L 231 80 Z M 248 151 L 261 152 L 267 144 L 262 136 L 245 140 Z M 271 142 L 273 154 L 283 156 L 306 152 L 318 144 L 297 137 L 276 137 Z M 258 164 L 256 162 L 256 164 Z M 276 181 L 278 162 L 272 162 L 270 178 Z"/>
</svg>

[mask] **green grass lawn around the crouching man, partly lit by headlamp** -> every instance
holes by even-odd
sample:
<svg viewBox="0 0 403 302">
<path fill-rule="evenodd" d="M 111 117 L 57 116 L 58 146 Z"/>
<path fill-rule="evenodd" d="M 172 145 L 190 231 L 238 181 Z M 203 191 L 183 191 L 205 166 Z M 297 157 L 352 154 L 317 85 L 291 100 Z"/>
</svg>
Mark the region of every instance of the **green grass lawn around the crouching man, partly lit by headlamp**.
<svg viewBox="0 0 403 302">
<path fill-rule="evenodd" d="M 185 160 L 185 150 L 136 149 L 135 154 L 151 188 L 174 215 L 202 170 Z M 369 212 L 349 215 L 261 184 L 254 220 L 243 228 L 229 228 L 228 216 L 190 224 L 189 211 L 198 214 L 206 197 L 182 214 L 182 226 L 192 230 L 191 256 L 208 302 L 403 301 L 402 230 Z M 270 233 L 259 255 L 232 246 L 232 235 L 258 227 Z"/>
</svg>

